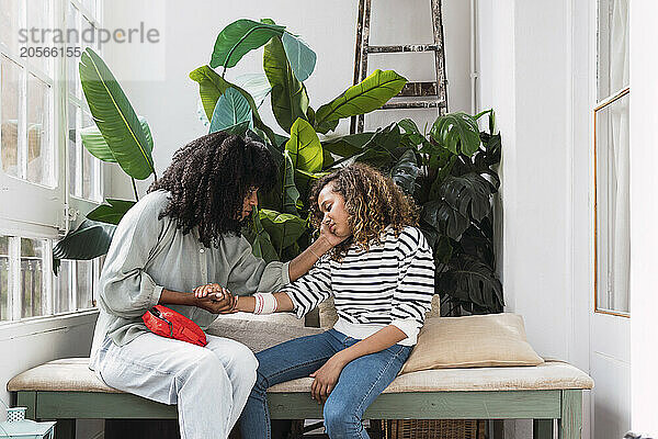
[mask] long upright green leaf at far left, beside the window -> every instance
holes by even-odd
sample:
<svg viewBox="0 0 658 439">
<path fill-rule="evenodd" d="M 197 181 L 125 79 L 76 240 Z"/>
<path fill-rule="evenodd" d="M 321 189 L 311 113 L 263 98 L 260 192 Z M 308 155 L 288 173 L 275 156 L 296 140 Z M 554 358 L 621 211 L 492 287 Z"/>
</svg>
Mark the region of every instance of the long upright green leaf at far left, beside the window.
<svg viewBox="0 0 658 439">
<path fill-rule="evenodd" d="M 152 142 L 149 145 L 133 105 L 110 68 L 88 47 L 79 70 L 89 110 L 114 159 L 135 179 L 144 180 L 155 173 Z"/>
</svg>

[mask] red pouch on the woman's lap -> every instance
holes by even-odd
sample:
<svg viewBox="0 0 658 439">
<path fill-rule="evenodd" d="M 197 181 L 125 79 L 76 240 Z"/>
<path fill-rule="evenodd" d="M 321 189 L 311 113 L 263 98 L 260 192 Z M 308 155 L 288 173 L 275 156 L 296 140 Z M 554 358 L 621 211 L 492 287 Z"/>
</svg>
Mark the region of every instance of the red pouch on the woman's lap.
<svg viewBox="0 0 658 439">
<path fill-rule="evenodd" d="M 181 341 L 191 342 L 197 346 L 206 346 L 204 331 L 194 322 L 177 313 L 167 306 L 156 305 L 141 316 L 146 327 L 151 333 L 173 338 Z"/>
</svg>

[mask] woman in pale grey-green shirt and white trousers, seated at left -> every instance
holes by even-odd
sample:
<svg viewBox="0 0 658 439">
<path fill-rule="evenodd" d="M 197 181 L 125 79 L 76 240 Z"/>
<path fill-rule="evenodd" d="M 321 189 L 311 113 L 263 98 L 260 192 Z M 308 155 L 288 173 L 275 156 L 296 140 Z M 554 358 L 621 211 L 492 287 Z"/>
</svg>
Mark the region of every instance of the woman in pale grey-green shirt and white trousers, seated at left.
<svg viewBox="0 0 658 439">
<path fill-rule="evenodd" d="M 100 315 L 90 368 L 107 385 L 178 404 L 181 437 L 227 438 L 256 381 L 257 360 L 243 345 L 207 337 L 205 348 L 149 333 L 141 315 L 167 305 L 206 328 L 232 299 L 195 297 L 216 282 L 240 293 L 276 291 L 304 274 L 337 239 L 322 233 L 290 263 L 253 257 L 240 235 L 272 185 L 266 148 L 225 133 L 178 150 L 162 178 L 116 227 L 99 283 Z"/>
</svg>

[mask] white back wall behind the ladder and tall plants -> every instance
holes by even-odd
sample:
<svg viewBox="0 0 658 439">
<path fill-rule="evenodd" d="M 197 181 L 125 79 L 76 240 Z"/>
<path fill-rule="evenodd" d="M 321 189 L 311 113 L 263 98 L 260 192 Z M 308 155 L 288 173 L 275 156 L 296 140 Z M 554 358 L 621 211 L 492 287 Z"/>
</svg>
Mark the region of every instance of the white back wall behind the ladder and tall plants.
<svg viewBox="0 0 658 439">
<path fill-rule="evenodd" d="M 373 2 L 371 44 L 431 42 L 430 2 L 427 0 L 377 0 Z M 329 102 L 352 85 L 358 1 L 321 0 L 292 2 L 214 0 L 181 2 L 145 0 L 105 2 L 106 27 L 127 27 L 144 21 L 161 29 L 163 43 L 158 52 L 145 53 L 136 45 L 107 45 L 104 57 L 116 74 L 138 114 L 148 119 L 155 139 L 154 157 L 159 172 L 166 169 L 172 154 L 188 142 L 206 133 L 196 114 L 198 87 L 188 74 L 208 63 L 217 34 L 240 18 L 271 18 L 299 34 L 317 53 L 318 60 L 306 81 L 310 105 Z M 463 0 L 444 1 L 444 32 L 449 101 L 451 111 L 469 111 L 469 7 Z M 135 46 L 135 47 L 133 47 Z M 433 78 L 433 61 L 426 55 L 386 55 L 371 57 L 374 68 L 394 68 L 410 80 Z M 262 71 L 262 49 L 248 54 L 237 67 L 229 69 L 230 80 L 242 72 Z M 137 77 L 140 80 L 127 80 Z M 124 80 L 126 79 L 126 80 Z M 268 125 L 277 125 L 265 109 Z M 435 111 L 378 112 L 366 117 L 374 128 L 389 121 L 411 115 L 422 126 L 433 121 Z M 338 133 L 348 133 L 349 121 L 341 121 Z M 114 193 L 132 198 L 129 181 L 114 167 Z M 141 184 L 144 188 L 146 184 Z"/>
</svg>

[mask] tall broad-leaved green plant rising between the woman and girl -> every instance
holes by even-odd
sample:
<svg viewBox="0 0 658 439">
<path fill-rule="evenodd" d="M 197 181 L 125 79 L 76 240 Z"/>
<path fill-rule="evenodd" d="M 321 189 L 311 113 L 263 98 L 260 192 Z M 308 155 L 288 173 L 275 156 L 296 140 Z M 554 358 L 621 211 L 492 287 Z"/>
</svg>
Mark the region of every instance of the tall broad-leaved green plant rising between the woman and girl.
<svg viewBox="0 0 658 439">
<path fill-rule="evenodd" d="M 232 83 L 225 79 L 227 69 L 260 47 L 263 75 L 242 75 Z M 308 192 L 315 180 L 340 165 L 332 148 L 322 146 L 318 133 L 333 131 L 341 119 L 379 109 L 407 82 L 393 70 L 375 70 L 316 112 L 304 83 L 316 60 L 313 49 L 285 26 L 269 19 L 242 19 L 218 34 L 208 65 L 190 72 L 198 83 L 209 132 L 257 138 L 265 143 L 279 165 L 275 189 L 259 194 L 259 210 L 242 230 L 252 243 L 253 254 L 265 260 L 290 260 L 309 244 Z M 219 67 L 222 74 L 215 70 Z M 286 135 L 276 134 L 262 121 L 260 102 L 268 95 L 274 120 Z M 341 148 L 345 147 L 336 146 L 337 151 Z"/>
</svg>

